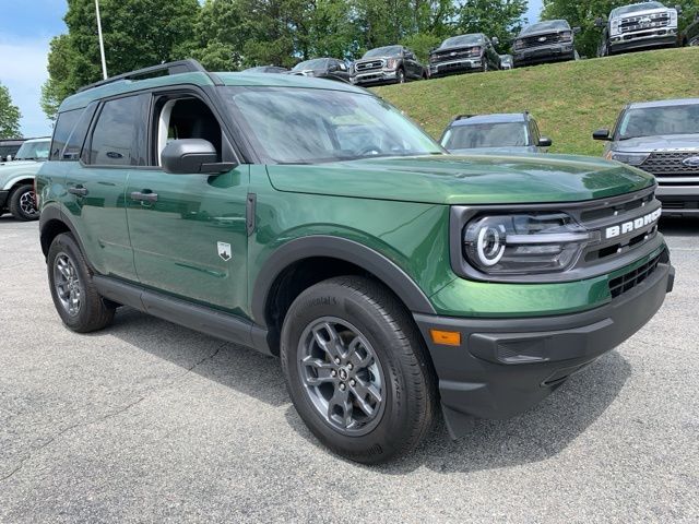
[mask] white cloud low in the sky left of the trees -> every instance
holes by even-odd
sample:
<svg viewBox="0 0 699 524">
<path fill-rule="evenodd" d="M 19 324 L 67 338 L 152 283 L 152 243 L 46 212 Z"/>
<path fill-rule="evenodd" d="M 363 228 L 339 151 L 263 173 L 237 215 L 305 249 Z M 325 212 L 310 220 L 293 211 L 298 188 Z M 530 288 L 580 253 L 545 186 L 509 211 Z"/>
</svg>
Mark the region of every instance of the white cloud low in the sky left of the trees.
<svg viewBox="0 0 699 524">
<path fill-rule="evenodd" d="M 50 38 L 0 39 L 0 82 L 10 90 L 12 100 L 22 111 L 22 133 L 42 136 L 51 133 L 39 98 L 42 85 L 48 78 L 46 70 Z"/>
</svg>

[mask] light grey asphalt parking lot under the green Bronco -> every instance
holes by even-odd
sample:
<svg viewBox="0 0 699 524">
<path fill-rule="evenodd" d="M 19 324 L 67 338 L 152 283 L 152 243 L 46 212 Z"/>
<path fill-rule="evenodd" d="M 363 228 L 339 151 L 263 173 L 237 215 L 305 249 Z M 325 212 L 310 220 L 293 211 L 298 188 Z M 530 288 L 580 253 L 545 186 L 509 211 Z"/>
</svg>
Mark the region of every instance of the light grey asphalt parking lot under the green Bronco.
<svg viewBox="0 0 699 524">
<path fill-rule="evenodd" d="M 699 221 L 661 228 L 676 287 L 640 333 L 525 415 L 366 467 L 275 359 L 133 310 L 66 330 L 37 224 L 0 217 L 0 521 L 696 522 Z"/>
</svg>

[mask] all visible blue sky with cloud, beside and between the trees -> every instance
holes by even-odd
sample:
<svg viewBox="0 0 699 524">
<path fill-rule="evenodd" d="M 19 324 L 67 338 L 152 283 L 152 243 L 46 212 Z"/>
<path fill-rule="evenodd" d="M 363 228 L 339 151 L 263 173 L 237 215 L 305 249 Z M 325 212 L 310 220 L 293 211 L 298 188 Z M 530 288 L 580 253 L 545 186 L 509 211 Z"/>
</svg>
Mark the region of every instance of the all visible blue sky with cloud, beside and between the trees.
<svg viewBox="0 0 699 524">
<path fill-rule="evenodd" d="M 50 134 L 50 122 L 39 107 L 46 81 L 46 57 L 51 37 L 66 32 L 66 0 L 0 0 L 0 82 L 22 111 L 25 136 Z M 530 0 L 528 19 L 534 22 L 542 0 Z"/>
</svg>

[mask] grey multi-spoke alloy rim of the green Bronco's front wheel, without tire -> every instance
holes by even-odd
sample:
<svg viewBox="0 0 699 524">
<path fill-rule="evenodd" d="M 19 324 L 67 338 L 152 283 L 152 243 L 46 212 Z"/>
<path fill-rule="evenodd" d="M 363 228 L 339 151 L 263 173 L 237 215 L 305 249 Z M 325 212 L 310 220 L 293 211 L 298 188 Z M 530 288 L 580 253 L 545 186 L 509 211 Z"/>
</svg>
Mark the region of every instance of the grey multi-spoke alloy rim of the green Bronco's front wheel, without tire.
<svg viewBox="0 0 699 524">
<path fill-rule="evenodd" d="M 336 431 L 359 436 L 381 420 L 386 380 L 371 344 L 344 320 L 311 322 L 298 345 L 298 370 L 318 414 Z"/>
</svg>

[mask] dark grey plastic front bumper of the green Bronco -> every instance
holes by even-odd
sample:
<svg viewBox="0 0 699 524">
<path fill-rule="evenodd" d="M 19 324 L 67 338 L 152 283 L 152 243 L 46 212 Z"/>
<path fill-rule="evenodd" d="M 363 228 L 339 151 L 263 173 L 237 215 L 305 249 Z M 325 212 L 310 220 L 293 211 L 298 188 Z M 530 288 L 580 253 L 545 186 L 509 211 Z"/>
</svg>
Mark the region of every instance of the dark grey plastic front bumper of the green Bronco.
<svg viewBox="0 0 699 524">
<path fill-rule="evenodd" d="M 473 416 L 509 418 L 537 404 L 641 329 L 673 283 L 674 269 L 665 250 L 642 282 L 590 311 L 531 319 L 414 314 L 439 378 L 451 436 L 464 434 Z M 461 345 L 435 344 L 433 329 L 460 332 Z"/>
</svg>

